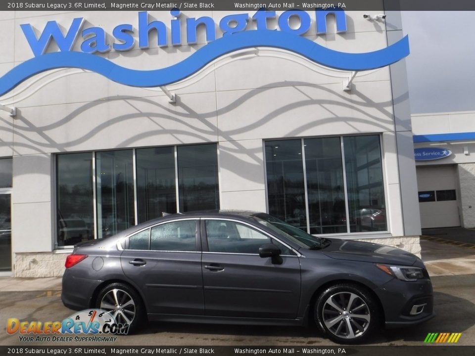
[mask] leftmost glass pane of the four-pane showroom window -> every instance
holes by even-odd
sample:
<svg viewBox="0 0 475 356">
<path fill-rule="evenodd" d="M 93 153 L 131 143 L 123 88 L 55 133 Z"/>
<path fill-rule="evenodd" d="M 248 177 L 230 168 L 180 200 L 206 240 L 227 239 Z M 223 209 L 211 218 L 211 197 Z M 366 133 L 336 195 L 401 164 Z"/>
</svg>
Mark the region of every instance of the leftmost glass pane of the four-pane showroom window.
<svg viewBox="0 0 475 356">
<path fill-rule="evenodd" d="M 57 162 L 57 245 L 94 238 L 93 155 L 69 153 Z"/>
</svg>

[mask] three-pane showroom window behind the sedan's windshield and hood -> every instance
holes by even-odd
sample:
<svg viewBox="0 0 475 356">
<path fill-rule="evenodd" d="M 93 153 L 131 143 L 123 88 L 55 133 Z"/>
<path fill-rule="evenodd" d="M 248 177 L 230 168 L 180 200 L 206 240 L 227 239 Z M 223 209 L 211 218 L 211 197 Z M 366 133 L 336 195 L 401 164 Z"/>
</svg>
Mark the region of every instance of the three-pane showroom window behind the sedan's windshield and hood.
<svg viewBox="0 0 475 356">
<path fill-rule="evenodd" d="M 265 154 L 269 214 L 312 234 L 387 229 L 379 135 L 266 141 Z"/>
</svg>

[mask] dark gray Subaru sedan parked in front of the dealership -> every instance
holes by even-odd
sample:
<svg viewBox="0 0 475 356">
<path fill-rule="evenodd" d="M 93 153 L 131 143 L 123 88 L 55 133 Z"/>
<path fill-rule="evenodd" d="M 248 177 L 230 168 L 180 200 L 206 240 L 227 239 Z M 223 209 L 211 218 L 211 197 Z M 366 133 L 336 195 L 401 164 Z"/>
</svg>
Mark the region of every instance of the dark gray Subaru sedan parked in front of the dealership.
<svg viewBox="0 0 475 356">
<path fill-rule="evenodd" d="M 129 332 L 147 319 L 315 322 L 345 344 L 434 316 L 417 256 L 237 211 L 168 215 L 82 242 L 66 259 L 61 299 L 74 310 L 105 310 Z"/>
</svg>

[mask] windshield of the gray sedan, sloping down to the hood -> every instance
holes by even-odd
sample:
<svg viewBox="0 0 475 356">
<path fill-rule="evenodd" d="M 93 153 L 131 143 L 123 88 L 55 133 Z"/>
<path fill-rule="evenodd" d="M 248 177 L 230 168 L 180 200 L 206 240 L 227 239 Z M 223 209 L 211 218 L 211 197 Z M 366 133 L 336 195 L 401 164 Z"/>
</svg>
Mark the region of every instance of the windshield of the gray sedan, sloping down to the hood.
<svg viewBox="0 0 475 356">
<path fill-rule="evenodd" d="M 287 239 L 297 243 L 301 247 L 314 249 L 323 248 L 326 245 L 327 239 L 312 236 L 305 231 L 300 230 L 299 228 L 292 226 L 289 223 L 285 223 L 284 221 L 274 218 L 268 214 L 257 214 L 253 218 L 258 223 L 269 227 L 280 235 L 283 235 Z"/>
</svg>

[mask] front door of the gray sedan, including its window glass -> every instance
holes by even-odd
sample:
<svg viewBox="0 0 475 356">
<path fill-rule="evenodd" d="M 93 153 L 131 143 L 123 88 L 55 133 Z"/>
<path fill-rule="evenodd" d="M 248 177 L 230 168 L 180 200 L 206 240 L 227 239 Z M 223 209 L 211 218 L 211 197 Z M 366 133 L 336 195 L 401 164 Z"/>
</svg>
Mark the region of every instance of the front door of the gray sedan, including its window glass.
<svg viewBox="0 0 475 356">
<path fill-rule="evenodd" d="M 202 219 L 205 315 L 293 319 L 300 299 L 297 254 L 249 223 Z M 273 243 L 282 263 L 261 258 Z"/>
</svg>

